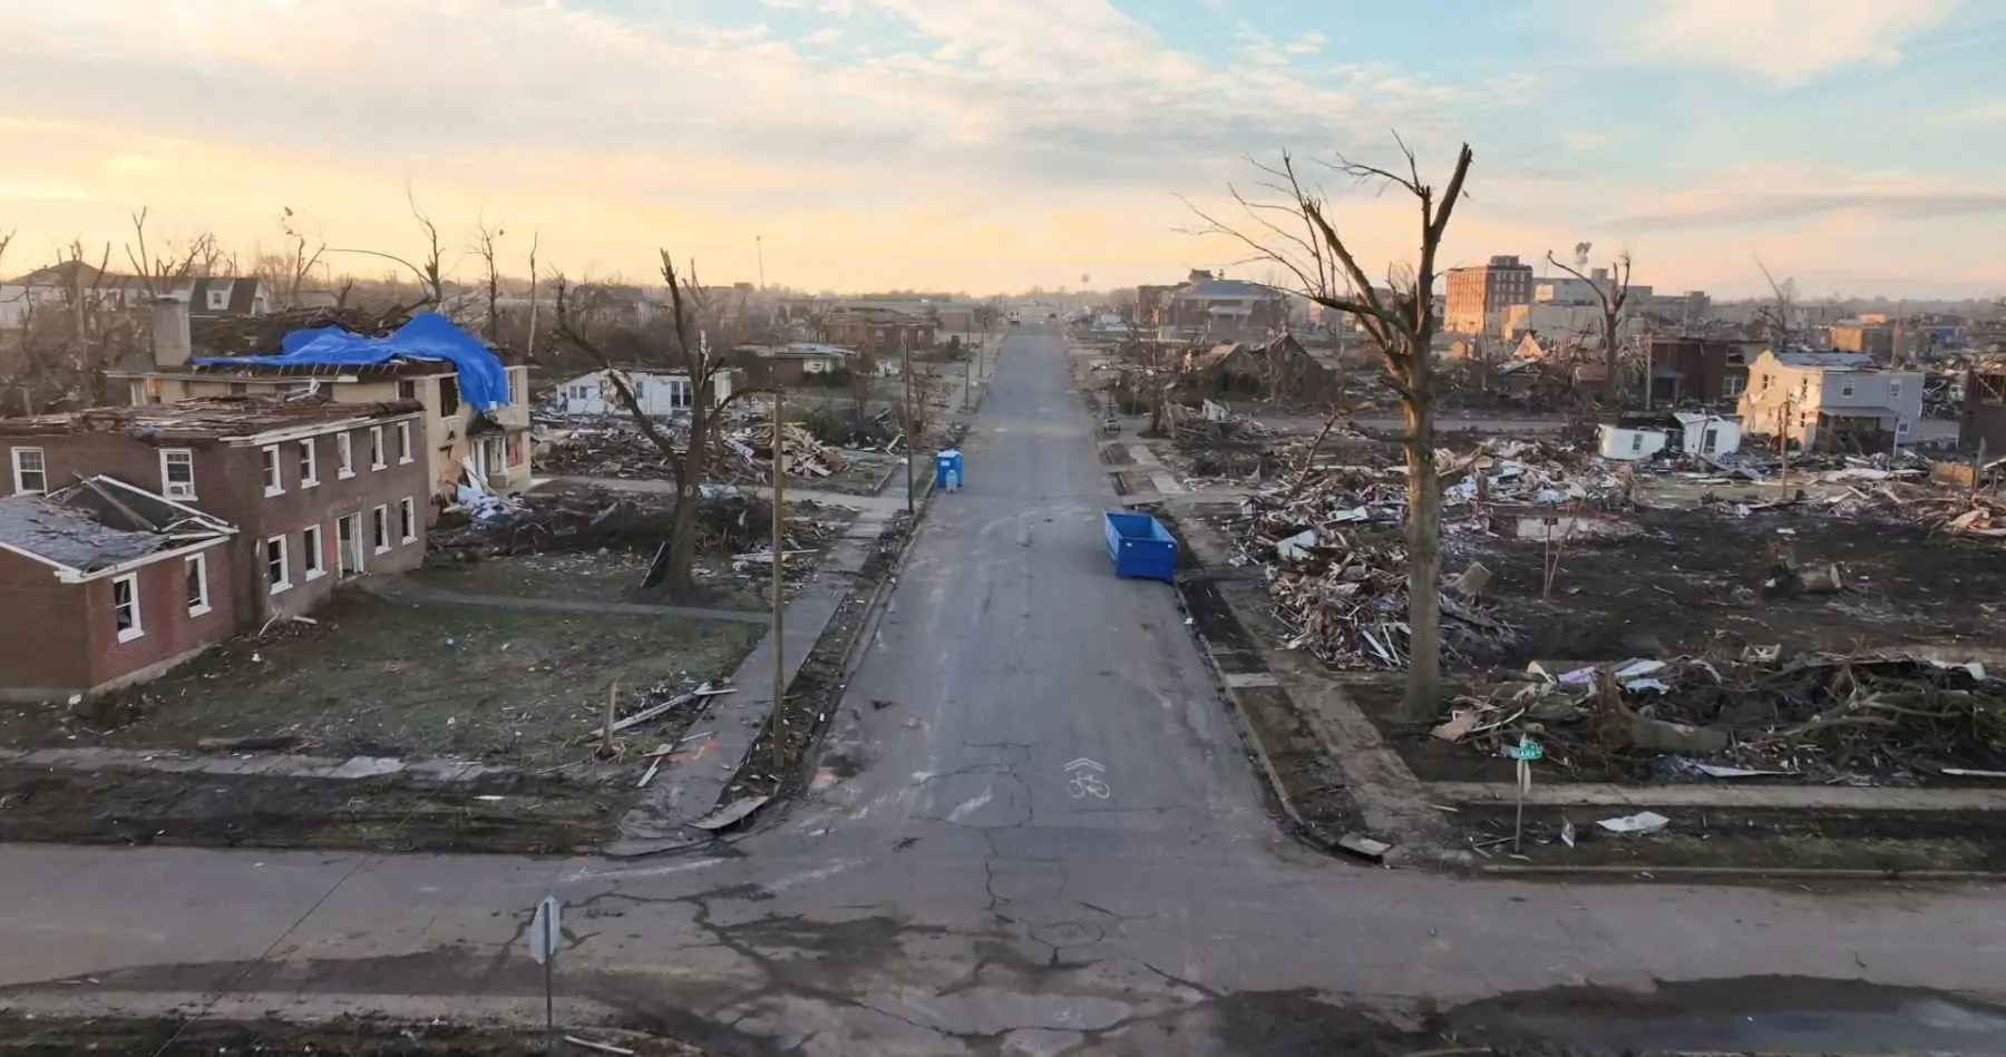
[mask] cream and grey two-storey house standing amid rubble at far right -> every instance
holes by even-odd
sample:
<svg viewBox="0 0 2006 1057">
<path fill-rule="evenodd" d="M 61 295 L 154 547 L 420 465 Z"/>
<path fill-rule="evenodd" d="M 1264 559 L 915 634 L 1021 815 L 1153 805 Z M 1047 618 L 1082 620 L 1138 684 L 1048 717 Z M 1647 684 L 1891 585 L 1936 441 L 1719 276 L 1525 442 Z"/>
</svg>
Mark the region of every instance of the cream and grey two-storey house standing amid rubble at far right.
<svg viewBox="0 0 2006 1057">
<path fill-rule="evenodd" d="M 1862 353 L 1773 353 L 1749 363 L 1741 431 L 1807 451 L 1894 451 L 1922 421 L 1920 371 L 1884 371 Z"/>
</svg>

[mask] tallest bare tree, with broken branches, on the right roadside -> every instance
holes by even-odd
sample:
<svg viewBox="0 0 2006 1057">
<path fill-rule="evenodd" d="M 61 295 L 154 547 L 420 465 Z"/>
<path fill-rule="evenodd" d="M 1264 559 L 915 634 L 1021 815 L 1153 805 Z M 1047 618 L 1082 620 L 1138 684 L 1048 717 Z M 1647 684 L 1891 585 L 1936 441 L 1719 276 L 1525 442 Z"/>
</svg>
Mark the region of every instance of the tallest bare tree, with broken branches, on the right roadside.
<svg viewBox="0 0 2006 1057">
<path fill-rule="evenodd" d="M 1414 199 L 1420 221 L 1420 253 L 1412 267 L 1388 269 L 1388 289 L 1374 289 L 1352 247 L 1338 233 L 1324 195 L 1308 183 L 1290 154 L 1278 166 L 1262 164 L 1260 187 L 1268 195 L 1248 199 L 1230 189 L 1246 213 L 1248 229 L 1236 229 L 1192 205 L 1206 223 L 1202 233 L 1232 237 L 1254 251 L 1252 261 L 1282 267 L 1298 293 L 1324 309 L 1358 321 L 1386 361 L 1406 417 L 1406 530 L 1408 530 L 1408 626 L 1406 718 L 1432 716 L 1440 706 L 1442 682 L 1442 483 L 1434 465 L 1434 281 L 1436 255 L 1448 233 L 1448 219 L 1462 199 L 1470 172 L 1470 146 L 1456 152 L 1448 187 L 1436 193 L 1420 177 L 1414 152 L 1394 134 L 1404 170 L 1378 168 L 1344 158 L 1326 168 L 1376 189 L 1400 189 Z M 1190 205 L 1190 203 L 1188 203 Z"/>
</svg>

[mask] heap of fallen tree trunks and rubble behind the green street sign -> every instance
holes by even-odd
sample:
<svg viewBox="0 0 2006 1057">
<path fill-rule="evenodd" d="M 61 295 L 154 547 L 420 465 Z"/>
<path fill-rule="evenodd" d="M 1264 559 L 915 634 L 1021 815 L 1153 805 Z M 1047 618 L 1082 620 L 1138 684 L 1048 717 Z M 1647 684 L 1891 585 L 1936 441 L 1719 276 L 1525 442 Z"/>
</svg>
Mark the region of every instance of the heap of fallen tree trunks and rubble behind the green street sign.
<svg viewBox="0 0 2006 1057">
<path fill-rule="evenodd" d="M 1456 698 L 1434 736 L 1486 756 L 1531 736 L 1597 778 L 2006 778 L 2006 686 L 1908 654 L 1533 664 Z"/>
</svg>

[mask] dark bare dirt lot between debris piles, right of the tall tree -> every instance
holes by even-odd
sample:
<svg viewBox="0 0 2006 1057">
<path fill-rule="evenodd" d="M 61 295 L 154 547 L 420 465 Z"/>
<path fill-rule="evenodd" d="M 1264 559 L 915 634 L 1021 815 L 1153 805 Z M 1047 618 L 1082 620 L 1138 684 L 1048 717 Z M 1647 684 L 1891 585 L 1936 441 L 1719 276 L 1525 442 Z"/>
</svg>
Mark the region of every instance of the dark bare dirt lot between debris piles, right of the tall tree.
<svg viewBox="0 0 2006 1057">
<path fill-rule="evenodd" d="M 1643 534 L 1569 542 L 1553 598 L 1537 540 L 1446 536 L 1444 566 L 1482 562 L 1488 602 L 1519 628 L 1478 664 L 1665 658 L 1743 646 L 1872 650 L 2006 646 L 2006 560 L 1994 542 L 1930 538 L 1888 521 L 1791 509 L 1735 517 L 1723 507 L 1645 511 Z M 1779 548 L 1799 566 L 1837 564 L 1850 588 L 1765 598 Z"/>
</svg>

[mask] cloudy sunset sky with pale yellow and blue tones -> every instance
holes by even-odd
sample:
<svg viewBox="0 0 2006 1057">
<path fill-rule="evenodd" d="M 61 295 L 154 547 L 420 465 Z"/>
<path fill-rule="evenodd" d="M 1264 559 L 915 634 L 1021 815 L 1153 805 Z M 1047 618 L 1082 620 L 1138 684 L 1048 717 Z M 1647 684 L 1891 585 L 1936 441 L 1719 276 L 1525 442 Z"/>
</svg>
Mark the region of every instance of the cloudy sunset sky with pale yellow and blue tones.
<svg viewBox="0 0 2006 1057">
<path fill-rule="evenodd" d="M 1446 179 L 1448 263 L 1629 247 L 1747 295 L 2006 293 L 1998 0 L 0 0 L 0 273 L 82 235 L 963 291 L 1176 279 L 1244 154 Z M 1374 267 L 1406 203 L 1332 185 Z M 367 257 L 343 259 L 375 275 Z M 514 271 L 526 271 L 526 261 Z M 1262 269 L 1236 275 L 1260 279 Z"/>
</svg>

